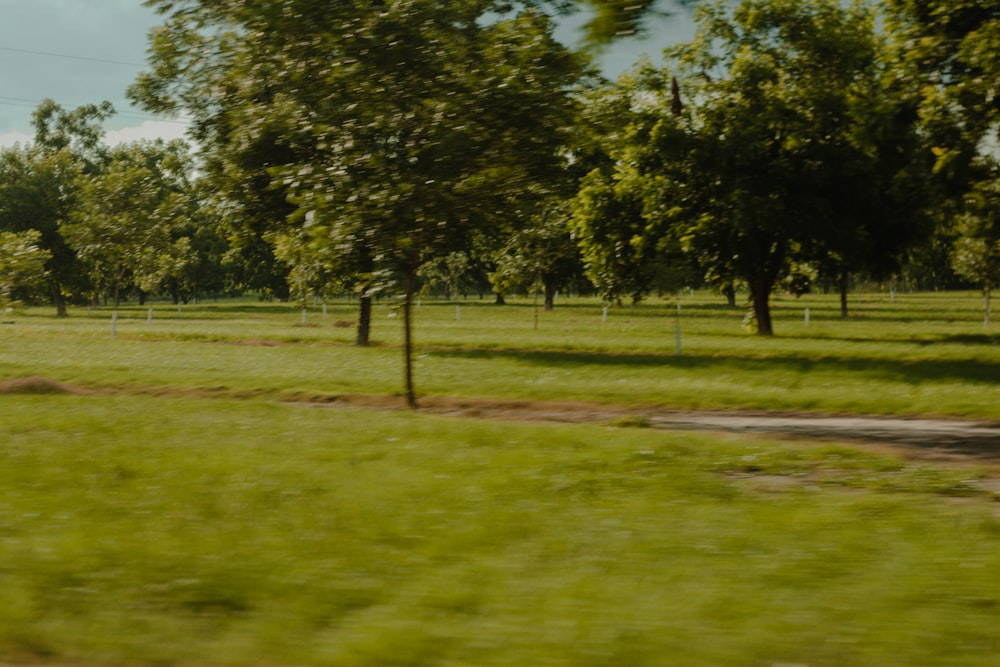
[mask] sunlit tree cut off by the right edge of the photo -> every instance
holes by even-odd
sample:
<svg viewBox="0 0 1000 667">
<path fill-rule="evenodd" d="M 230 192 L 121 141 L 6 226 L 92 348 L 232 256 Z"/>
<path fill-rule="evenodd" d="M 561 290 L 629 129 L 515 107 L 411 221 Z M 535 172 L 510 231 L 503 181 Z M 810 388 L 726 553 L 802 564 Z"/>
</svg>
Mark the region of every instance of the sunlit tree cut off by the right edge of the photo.
<svg viewBox="0 0 1000 667">
<path fill-rule="evenodd" d="M 937 284 L 949 269 L 984 287 L 986 318 L 995 283 L 997 166 L 1000 138 L 1000 2 L 889 0 L 891 28 L 909 46 L 908 75 L 921 86 L 920 114 L 936 162 L 936 241 L 914 263 Z M 992 274 L 992 277 L 991 277 Z"/>
</svg>

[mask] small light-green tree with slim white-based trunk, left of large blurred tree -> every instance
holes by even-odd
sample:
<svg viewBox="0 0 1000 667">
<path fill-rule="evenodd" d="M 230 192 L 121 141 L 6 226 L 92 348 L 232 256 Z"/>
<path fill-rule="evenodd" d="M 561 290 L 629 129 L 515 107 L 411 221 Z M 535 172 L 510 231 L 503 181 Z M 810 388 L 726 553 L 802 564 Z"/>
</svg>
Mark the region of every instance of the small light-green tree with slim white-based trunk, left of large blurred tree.
<svg viewBox="0 0 1000 667">
<path fill-rule="evenodd" d="M 190 252 L 189 240 L 173 237 L 191 210 L 190 171 L 186 143 L 157 140 L 116 146 L 103 172 L 82 176 L 77 206 L 60 232 L 95 284 L 110 283 L 116 309 L 127 279 L 158 285 Z"/>
</svg>

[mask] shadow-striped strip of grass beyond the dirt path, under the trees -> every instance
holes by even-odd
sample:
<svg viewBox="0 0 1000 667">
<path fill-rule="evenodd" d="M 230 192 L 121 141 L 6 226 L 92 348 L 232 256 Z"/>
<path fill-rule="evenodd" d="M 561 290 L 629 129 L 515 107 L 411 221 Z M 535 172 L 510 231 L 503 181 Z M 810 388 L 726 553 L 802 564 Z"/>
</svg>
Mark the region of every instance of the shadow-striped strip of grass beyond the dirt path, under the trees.
<svg viewBox="0 0 1000 667">
<path fill-rule="evenodd" d="M 677 317 L 677 304 L 681 315 Z M 35 309 L 0 329 L 0 379 L 42 375 L 98 388 L 246 395 L 396 394 L 399 322 L 376 309 L 377 344 L 351 346 L 355 306 L 254 302 L 123 309 L 57 320 Z M 416 368 L 425 395 L 572 399 L 670 408 L 754 408 L 1000 418 L 1000 333 L 973 294 L 867 295 L 847 321 L 835 296 L 776 299 L 779 335 L 699 294 L 611 309 L 560 303 L 425 302 Z M 810 321 L 803 312 L 810 309 Z M 675 327 L 682 329 L 678 355 Z"/>
</svg>

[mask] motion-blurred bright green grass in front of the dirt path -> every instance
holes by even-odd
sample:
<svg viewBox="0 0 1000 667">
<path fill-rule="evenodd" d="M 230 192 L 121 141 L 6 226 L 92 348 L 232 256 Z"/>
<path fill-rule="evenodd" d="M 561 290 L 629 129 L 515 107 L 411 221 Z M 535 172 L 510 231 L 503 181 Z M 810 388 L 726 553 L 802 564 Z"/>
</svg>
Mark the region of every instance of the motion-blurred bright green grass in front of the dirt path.
<svg viewBox="0 0 1000 667">
<path fill-rule="evenodd" d="M 0 662 L 1000 652 L 1000 522 L 971 469 L 257 400 L 0 403 Z"/>
</svg>

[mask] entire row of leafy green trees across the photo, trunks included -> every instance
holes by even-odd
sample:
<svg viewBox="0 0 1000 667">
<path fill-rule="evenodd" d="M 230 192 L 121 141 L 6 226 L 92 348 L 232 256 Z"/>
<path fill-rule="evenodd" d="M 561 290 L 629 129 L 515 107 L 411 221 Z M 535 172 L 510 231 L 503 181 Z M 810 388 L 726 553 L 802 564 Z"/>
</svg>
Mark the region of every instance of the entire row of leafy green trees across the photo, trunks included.
<svg viewBox="0 0 1000 667">
<path fill-rule="evenodd" d="M 422 281 L 551 297 L 582 274 L 612 301 L 746 288 L 771 334 L 782 285 L 837 285 L 846 316 L 852 274 L 997 280 L 1000 2 L 691 3 L 696 38 L 615 83 L 553 38 L 573 2 L 147 4 L 129 94 L 193 119 L 197 172 L 179 144 L 103 146 L 107 106 L 51 103 L 0 162 L 0 229 L 37 234 L 3 242 L 37 248 L 60 308 L 336 285 L 365 344 L 389 287 L 409 341 Z M 655 11 L 588 4 L 593 43 Z"/>
</svg>

